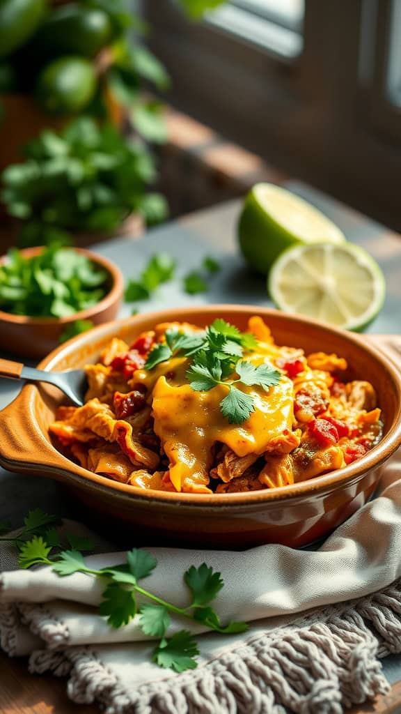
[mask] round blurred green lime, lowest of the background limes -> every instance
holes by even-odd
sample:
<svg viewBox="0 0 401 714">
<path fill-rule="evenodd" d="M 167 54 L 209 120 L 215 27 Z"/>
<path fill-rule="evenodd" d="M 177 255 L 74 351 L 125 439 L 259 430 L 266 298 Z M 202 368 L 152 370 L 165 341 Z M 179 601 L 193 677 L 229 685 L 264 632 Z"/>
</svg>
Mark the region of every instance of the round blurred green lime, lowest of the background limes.
<svg viewBox="0 0 401 714">
<path fill-rule="evenodd" d="M 93 98 L 96 74 L 90 61 L 66 56 L 54 60 L 39 74 L 36 96 L 50 114 L 74 114 Z"/>
</svg>

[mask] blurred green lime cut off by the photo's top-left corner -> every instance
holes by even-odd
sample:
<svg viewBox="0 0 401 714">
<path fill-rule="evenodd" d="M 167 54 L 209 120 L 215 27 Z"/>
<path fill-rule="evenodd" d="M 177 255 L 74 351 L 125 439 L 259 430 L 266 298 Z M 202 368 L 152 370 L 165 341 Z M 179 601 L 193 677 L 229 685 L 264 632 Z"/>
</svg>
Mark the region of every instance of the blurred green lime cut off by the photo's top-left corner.
<svg viewBox="0 0 401 714">
<path fill-rule="evenodd" d="M 0 57 L 24 44 L 44 17 L 47 0 L 0 0 Z"/>
</svg>

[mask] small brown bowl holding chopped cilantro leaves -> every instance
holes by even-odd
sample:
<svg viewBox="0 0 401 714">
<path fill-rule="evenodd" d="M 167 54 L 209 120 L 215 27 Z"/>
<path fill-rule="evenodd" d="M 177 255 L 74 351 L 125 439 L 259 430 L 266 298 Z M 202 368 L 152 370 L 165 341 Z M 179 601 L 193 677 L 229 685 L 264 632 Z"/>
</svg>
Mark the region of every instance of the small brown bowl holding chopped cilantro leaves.
<svg viewBox="0 0 401 714">
<path fill-rule="evenodd" d="M 0 348 L 7 352 L 30 358 L 42 358 L 59 345 L 59 337 L 68 324 L 76 320 L 91 320 L 95 325 L 113 320 L 120 307 L 123 295 L 121 271 L 107 258 L 83 248 L 71 248 L 104 268 L 108 275 L 109 291 L 100 302 L 87 310 L 81 310 L 63 318 L 38 318 L 12 315 L 0 311 Z M 21 251 L 27 258 L 37 255 L 41 248 L 26 248 Z M 0 265 L 6 256 L 0 258 Z"/>
</svg>

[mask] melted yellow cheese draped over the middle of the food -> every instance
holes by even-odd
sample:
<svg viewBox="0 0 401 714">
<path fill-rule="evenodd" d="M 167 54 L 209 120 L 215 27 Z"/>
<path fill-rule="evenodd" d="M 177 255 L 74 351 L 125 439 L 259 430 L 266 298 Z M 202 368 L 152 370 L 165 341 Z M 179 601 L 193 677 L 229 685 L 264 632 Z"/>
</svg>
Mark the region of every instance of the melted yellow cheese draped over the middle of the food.
<svg viewBox="0 0 401 714">
<path fill-rule="evenodd" d="M 255 364 L 270 363 L 258 346 L 258 353 L 245 358 Z M 170 461 L 170 478 L 176 491 L 210 491 L 209 470 L 216 441 L 237 456 L 263 454 L 269 442 L 285 429 L 293 428 L 293 382 L 282 376 L 268 391 L 259 386 L 237 384 L 253 397 L 255 411 L 241 424 L 230 424 L 220 411 L 220 402 L 229 388 L 223 384 L 208 392 L 193 391 L 186 379 L 190 361 L 173 357 L 151 371 L 138 370 L 135 381 L 151 391 L 154 431 L 161 439 Z"/>
</svg>

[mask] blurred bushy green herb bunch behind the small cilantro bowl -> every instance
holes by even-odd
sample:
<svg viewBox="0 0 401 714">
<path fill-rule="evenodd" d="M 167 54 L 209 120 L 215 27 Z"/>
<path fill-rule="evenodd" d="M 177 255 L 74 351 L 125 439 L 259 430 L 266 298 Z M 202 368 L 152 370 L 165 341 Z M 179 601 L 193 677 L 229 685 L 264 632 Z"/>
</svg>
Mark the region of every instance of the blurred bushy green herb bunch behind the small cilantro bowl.
<svg viewBox="0 0 401 714">
<path fill-rule="evenodd" d="M 111 233 L 130 213 L 148 223 L 166 217 L 165 199 L 148 190 L 150 151 L 112 124 L 82 116 L 59 133 L 43 131 L 25 155 L 3 172 L 1 192 L 9 215 L 24 221 L 21 245 L 42 245 L 54 231 Z"/>
</svg>

